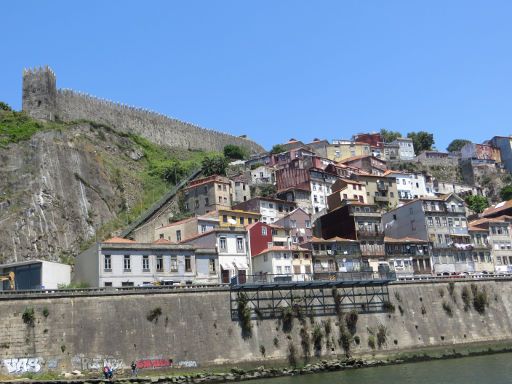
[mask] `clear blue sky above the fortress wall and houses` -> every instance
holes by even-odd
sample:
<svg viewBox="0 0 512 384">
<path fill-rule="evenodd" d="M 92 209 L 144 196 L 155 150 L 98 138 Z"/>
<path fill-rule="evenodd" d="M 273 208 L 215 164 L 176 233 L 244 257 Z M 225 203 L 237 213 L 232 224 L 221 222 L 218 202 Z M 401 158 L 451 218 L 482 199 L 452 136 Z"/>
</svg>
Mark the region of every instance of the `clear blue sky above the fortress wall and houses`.
<svg viewBox="0 0 512 384">
<path fill-rule="evenodd" d="M 247 134 L 512 132 L 510 1 L 4 1 L 0 100 L 60 88 Z"/>
</svg>

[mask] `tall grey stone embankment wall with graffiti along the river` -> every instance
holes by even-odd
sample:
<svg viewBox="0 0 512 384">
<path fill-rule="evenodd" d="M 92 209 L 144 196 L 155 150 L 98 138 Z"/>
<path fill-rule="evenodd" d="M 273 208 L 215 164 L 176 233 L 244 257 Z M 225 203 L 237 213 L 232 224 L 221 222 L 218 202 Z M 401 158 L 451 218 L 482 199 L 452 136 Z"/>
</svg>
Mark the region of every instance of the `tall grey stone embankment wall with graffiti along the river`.
<svg viewBox="0 0 512 384">
<path fill-rule="evenodd" d="M 395 311 L 359 314 L 350 341 L 351 353 L 422 350 L 475 342 L 507 343 L 512 339 L 512 282 L 474 284 L 473 289 L 485 291 L 488 299 L 483 314 L 476 312 L 471 304 L 470 283 L 456 282 L 453 290 L 446 283 L 390 286 Z M 463 287 L 470 292 L 470 306 L 466 309 Z M 254 320 L 252 336 L 244 338 L 240 324 L 231 319 L 229 298 L 229 291 L 219 289 L 2 299 L 0 373 L 98 371 L 105 362 L 126 367 L 132 360 L 144 369 L 169 366 L 170 359 L 174 367 L 235 365 L 287 359 L 290 346 L 301 362 L 306 347 L 311 356 L 315 355 L 313 323 L 321 324 L 324 334 L 317 354 L 343 354 L 337 317 L 294 319 L 287 332 L 277 319 Z M 34 309 L 33 324 L 30 324 L 31 316 L 25 315 L 28 322 L 22 318 L 30 308 Z M 151 314 L 152 321 L 148 319 Z M 329 321 L 331 330 L 325 337 L 325 324 Z M 371 333 L 379 329 L 384 330 L 385 340 L 373 349 L 368 341 Z M 356 336 L 359 344 L 354 341 Z"/>
</svg>

